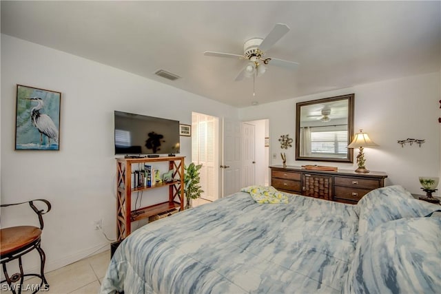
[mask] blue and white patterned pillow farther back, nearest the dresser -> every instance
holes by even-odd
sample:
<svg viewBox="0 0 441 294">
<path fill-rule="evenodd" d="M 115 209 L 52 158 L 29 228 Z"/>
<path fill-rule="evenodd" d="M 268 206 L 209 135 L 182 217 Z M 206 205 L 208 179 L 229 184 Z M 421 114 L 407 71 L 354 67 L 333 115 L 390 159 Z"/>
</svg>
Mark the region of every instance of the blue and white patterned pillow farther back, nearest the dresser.
<svg viewBox="0 0 441 294">
<path fill-rule="evenodd" d="M 365 235 L 378 225 L 400 218 L 418 218 L 440 209 L 439 205 L 416 200 L 399 185 L 370 191 L 357 204 L 358 235 Z"/>
</svg>

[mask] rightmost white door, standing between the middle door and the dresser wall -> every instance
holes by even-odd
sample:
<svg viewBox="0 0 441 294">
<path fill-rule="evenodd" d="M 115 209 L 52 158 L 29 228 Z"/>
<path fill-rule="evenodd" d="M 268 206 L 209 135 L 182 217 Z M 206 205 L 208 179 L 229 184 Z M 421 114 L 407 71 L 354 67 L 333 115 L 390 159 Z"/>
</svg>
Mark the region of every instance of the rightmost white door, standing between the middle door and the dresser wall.
<svg viewBox="0 0 441 294">
<path fill-rule="evenodd" d="M 242 178 L 243 187 L 248 187 L 256 185 L 255 126 L 243 123 L 242 133 Z"/>
</svg>

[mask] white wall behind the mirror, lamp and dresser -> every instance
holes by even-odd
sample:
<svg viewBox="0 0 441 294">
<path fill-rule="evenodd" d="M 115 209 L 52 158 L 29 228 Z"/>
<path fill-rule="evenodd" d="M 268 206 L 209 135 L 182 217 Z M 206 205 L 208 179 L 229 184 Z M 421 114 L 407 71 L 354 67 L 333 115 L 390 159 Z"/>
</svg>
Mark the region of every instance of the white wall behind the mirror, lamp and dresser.
<svg viewBox="0 0 441 294">
<path fill-rule="evenodd" d="M 387 185 L 402 185 L 412 193 L 422 193 L 418 176 L 440 175 L 440 72 L 409 76 L 391 81 L 302 96 L 239 110 L 240 120 L 269 118 L 271 164 L 281 164 L 280 135 L 289 134 L 295 140 L 296 103 L 318 98 L 355 93 L 355 129 L 363 129 L 380 145 L 365 149 L 366 166 L 371 171 L 389 175 Z M 397 140 L 425 139 L 426 143 L 401 147 Z M 321 164 L 340 169 L 356 169 L 353 164 L 336 162 L 296 161 L 295 142 L 284 150 L 287 165 Z M 354 156 L 358 149 L 354 149 Z M 440 195 L 440 192 L 437 192 Z"/>
</svg>

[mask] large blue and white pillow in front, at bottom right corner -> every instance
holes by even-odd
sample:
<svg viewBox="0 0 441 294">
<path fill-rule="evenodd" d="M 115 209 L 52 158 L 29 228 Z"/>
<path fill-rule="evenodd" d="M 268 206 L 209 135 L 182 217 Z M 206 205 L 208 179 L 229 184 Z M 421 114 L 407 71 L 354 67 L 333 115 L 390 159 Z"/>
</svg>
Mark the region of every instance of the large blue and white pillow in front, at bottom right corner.
<svg viewBox="0 0 441 294">
<path fill-rule="evenodd" d="M 441 218 L 402 218 L 358 240 L 342 293 L 440 293 Z"/>
</svg>

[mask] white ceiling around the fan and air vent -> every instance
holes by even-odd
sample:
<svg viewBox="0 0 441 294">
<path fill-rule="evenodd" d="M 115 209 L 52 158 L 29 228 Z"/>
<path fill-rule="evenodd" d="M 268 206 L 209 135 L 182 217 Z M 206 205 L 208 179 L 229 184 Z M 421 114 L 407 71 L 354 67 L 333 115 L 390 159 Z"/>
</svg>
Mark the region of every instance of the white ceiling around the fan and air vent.
<svg viewBox="0 0 441 294">
<path fill-rule="evenodd" d="M 276 23 L 291 30 L 253 80 L 243 54 Z M 236 107 L 441 69 L 440 1 L 1 1 L 1 32 Z M 181 76 L 154 75 L 159 69 Z"/>
</svg>

